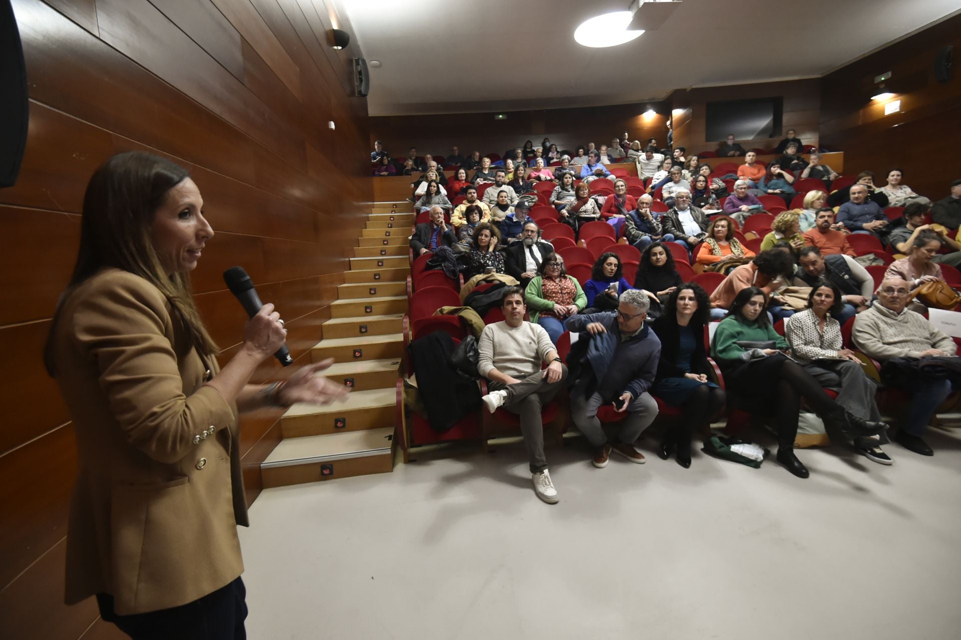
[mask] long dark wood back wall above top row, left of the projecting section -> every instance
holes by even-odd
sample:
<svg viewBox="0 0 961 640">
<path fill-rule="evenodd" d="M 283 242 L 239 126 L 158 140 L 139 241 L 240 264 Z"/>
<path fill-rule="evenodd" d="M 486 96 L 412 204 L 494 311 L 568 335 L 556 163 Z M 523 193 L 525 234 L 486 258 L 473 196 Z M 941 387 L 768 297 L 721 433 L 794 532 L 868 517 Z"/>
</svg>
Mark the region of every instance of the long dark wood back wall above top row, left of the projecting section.
<svg viewBox="0 0 961 640">
<path fill-rule="evenodd" d="M 370 118 L 371 148 L 376 139 L 383 140 L 392 158 L 407 156 L 410 147 L 425 153 L 447 156 L 456 145 L 469 156 L 504 154 L 508 147 L 520 147 L 525 140 L 537 146 L 550 137 L 558 149 L 575 149 L 579 144 L 594 142 L 609 145 L 614 137 L 628 132 L 630 139 L 643 144 L 656 137 L 661 146 L 667 144 L 666 104 L 651 105 L 659 111 L 644 115 L 647 103 L 585 107 L 578 109 L 545 109 L 541 111 L 505 111 L 505 120 L 495 120 L 494 113 L 440 113 L 436 115 L 382 115 Z"/>
</svg>

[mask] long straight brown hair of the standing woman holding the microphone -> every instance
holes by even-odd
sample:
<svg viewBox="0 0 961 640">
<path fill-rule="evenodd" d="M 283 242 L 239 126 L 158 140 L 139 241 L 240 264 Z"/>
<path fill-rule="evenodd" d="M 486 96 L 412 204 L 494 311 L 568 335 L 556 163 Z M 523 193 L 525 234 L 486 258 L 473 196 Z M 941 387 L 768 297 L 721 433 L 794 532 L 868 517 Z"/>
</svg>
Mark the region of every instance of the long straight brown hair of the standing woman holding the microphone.
<svg viewBox="0 0 961 640">
<path fill-rule="evenodd" d="M 217 352 L 193 302 L 189 275 L 165 273 L 152 239 L 157 209 L 167 192 L 188 177 L 179 164 L 140 151 L 117 154 L 93 172 L 84 194 L 77 262 L 57 303 L 43 350 L 50 376 L 57 373 L 53 345 L 64 301 L 105 267 L 129 271 L 160 289 L 197 350 L 202 355 Z"/>
</svg>

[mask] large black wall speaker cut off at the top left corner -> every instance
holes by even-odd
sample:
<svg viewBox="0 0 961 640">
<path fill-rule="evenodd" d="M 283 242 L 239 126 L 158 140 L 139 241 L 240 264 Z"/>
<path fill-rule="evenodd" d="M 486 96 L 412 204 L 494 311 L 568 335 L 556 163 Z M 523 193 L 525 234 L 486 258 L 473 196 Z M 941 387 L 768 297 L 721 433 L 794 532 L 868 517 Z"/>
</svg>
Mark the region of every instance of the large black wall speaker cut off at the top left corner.
<svg viewBox="0 0 961 640">
<path fill-rule="evenodd" d="M 12 186 L 27 146 L 27 69 L 10 0 L 0 0 L 0 186 Z"/>
</svg>

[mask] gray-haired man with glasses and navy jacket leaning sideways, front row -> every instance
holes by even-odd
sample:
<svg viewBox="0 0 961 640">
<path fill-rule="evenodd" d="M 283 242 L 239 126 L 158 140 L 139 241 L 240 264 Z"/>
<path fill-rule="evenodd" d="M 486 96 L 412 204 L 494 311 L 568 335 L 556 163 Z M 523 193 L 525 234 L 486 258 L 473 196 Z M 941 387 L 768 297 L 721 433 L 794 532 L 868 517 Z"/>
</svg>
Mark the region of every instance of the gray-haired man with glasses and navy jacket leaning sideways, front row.
<svg viewBox="0 0 961 640">
<path fill-rule="evenodd" d="M 660 359 L 660 340 L 644 324 L 650 307 L 646 294 L 628 289 L 621 294 L 616 312 L 575 315 L 567 321 L 568 331 L 589 335 L 580 338 L 590 341 L 587 348 L 572 352 L 579 356 L 575 356 L 577 364 L 570 362 L 569 397 L 571 417 L 594 448 L 592 462 L 599 469 L 607 466 L 612 451 L 644 463 L 634 441 L 657 416 L 657 403 L 648 389 Z M 616 423 L 612 440 L 598 419 L 598 409 L 608 404 L 618 413 L 627 413 Z"/>
</svg>

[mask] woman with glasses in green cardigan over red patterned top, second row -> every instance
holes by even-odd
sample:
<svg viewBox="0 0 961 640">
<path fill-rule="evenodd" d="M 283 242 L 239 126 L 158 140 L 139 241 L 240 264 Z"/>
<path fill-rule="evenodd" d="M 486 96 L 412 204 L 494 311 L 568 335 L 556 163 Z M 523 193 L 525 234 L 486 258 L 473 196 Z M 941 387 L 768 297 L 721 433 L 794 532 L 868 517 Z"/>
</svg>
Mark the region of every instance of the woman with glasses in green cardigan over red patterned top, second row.
<svg viewBox="0 0 961 640">
<path fill-rule="evenodd" d="M 543 327 L 551 341 L 557 344 L 566 320 L 587 307 L 587 296 L 580 283 L 564 271 L 564 258 L 560 254 L 545 256 L 539 273 L 524 292 L 530 322 Z"/>
</svg>

